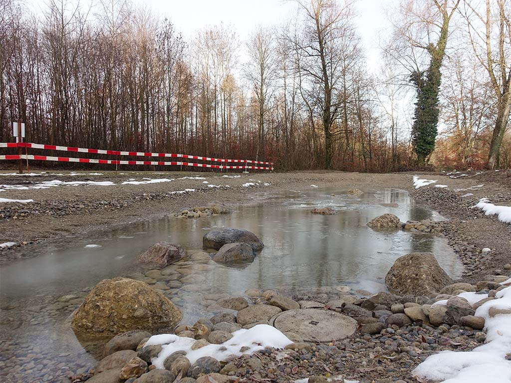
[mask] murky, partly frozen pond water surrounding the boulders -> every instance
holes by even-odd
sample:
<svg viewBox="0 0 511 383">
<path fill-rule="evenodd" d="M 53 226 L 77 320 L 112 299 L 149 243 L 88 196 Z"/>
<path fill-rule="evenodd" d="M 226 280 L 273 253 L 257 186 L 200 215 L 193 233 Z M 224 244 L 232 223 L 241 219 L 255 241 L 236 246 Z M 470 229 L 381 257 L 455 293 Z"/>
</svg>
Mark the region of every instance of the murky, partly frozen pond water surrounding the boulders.
<svg viewBox="0 0 511 383">
<path fill-rule="evenodd" d="M 13 262 L 0 270 L 2 305 L 16 306 L 2 310 L 2 341 L 5 345 L 5 341 L 16 339 L 16 347 L 25 348 L 44 345 L 43 357 L 55 358 L 61 351 L 52 354 L 51 350 L 60 350 L 64 339 L 64 347 L 71 353 L 60 358 L 86 361 L 89 357 L 63 326 L 77 304 L 60 307 L 56 299 L 73 293 L 79 301 L 87 288 L 103 278 L 142 277 L 136 264 L 138 253 L 157 241 L 200 248 L 202 236 L 214 227 L 253 231 L 262 238 L 265 248 L 251 264 L 227 267 L 209 261 L 186 282 L 180 282 L 181 275 L 176 271 L 176 280 L 166 294 L 174 298 L 187 321 L 207 315 L 211 301 L 204 295 L 211 293 L 243 294 L 247 289 L 271 288 L 293 294 L 322 291 L 339 284 L 381 291 L 392 262 L 411 251 L 433 252 L 448 274 L 461 274 L 462 266 L 444 237 L 401 230 L 375 231 L 365 226 L 386 212 L 396 214 L 401 221 L 441 217 L 411 200 L 403 190 L 366 192 L 350 196 L 330 188 L 261 195 L 253 205 L 241 206 L 223 216 L 161 219 L 129 225 L 99 237 L 74 237 L 51 247 L 22 248 L 21 251 L 33 251 L 39 256 Z M 311 214 L 310 209 L 318 206 L 333 207 L 339 212 L 334 216 Z M 91 244 L 101 247 L 85 248 Z M 184 261 L 173 267 L 177 270 L 189 264 Z M 33 349 L 27 352 L 30 351 Z M 6 358 L 0 359 L 0 364 L 3 360 Z M 28 371 L 34 376 L 42 373 Z"/>
</svg>

